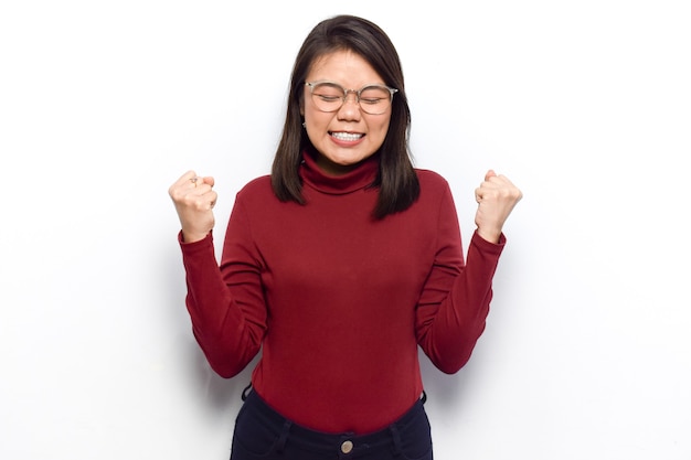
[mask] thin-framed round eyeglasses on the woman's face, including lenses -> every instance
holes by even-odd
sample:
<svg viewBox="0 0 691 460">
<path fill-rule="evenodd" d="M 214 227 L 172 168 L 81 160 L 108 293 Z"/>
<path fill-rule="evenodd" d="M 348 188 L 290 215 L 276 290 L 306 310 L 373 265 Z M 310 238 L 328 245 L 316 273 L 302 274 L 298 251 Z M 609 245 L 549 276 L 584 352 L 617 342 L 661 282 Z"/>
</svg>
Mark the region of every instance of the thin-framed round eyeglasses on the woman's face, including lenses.
<svg viewBox="0 0 691 460">
<path fill-rule="evenodd" d="M 309 87 L 315 106 L 321 111 L 340 109 L 349 93 L 355 95 L 355 103 L 365 114 L 381 115 L 389 110 L 394 93 L 398 89 L 385 85 L 366 85 L 360 89 L 346 89 L 333 82 L 305 82 Z"/>
</svg>

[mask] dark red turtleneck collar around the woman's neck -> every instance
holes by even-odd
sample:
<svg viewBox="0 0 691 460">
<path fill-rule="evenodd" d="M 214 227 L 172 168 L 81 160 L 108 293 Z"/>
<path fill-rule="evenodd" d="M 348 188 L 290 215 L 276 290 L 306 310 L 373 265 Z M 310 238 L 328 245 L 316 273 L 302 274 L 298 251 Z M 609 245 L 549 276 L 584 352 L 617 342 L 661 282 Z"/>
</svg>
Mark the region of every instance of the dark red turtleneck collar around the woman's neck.
<svg viewBox="0 0 691 460">
<path fill-rule="evenodd" d="M 379 171 L 379 153 L 363 160 L 352 171 L 341 175 L 332 175 L 322 171 L 308 151 L 302 152 L 300 176 L 306 185 L 322 193 L 342 195 L 364 189 L 374 182 Z"/>
</svg>

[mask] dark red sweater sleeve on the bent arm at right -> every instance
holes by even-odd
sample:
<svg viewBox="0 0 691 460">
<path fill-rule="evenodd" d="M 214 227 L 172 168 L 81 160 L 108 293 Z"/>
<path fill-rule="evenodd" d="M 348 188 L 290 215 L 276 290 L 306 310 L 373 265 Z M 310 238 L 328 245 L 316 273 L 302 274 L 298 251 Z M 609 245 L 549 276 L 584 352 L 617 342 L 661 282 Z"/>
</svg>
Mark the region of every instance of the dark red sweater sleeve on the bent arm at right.
<svg viewBox="0 0 691 460">
<path fill-rule="evenodd" d="M 437 249 L 416 310 L 416 336 L 440 371 L 458 372 L 485 330 L 492 278 L 506 238 L 499 244 L 472 234 L 464 261 L 456 208 L 447 190 L 439 204 Z"/>
</svg>

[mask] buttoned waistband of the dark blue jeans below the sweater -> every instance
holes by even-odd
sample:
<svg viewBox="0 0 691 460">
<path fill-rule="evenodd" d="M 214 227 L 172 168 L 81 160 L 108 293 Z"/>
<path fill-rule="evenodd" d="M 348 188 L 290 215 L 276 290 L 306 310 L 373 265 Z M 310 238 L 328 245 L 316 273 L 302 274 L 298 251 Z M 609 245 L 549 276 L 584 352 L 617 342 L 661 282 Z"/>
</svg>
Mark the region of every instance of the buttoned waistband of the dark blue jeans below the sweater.
<svg viewBox="0 0 691 460">
<path fill-rule="evenodd" d="M 325 454 L 338 453 L 339 458 L 355 459 L 360 456 L 371 456 L 376 451 L 402 449 L 401 431 L 417 417 L 425 416 L 424 396 L 411 409 L 389 427 L 375 432 L 355 435 L 353 432 L 325 434 L 302 427 L 285 418 L 273 409 L 256 392 L 243 395 L 245 409 L 253 410 L 268 424 L 280 428 L 278 450 L 287 442 L 299 446 L 301 449 Z"/>
</svg>

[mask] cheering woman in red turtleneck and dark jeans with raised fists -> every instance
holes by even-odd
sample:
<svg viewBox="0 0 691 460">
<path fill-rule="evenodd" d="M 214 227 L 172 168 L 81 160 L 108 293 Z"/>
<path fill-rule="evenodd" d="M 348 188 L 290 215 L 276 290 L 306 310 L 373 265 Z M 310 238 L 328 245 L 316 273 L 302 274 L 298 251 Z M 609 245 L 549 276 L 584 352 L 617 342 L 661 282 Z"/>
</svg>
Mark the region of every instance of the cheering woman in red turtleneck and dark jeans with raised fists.
<svg viewBox="0 0 691 460">
<path fill-rule="evenodd" d="M 410 121 L 386 34 L 331 18 L 297 55 L 272 174 L 237 193 L 220 266 L 214 179 L 170 188 L 209 363 L 232 377 L 262 349 L 232 459 L 432 459 L 417 347 L 445 373 L 468 361 L 521 192 L 487 173 L 465 261 L 447 182 L 411 163 Z"/>
</svg>

